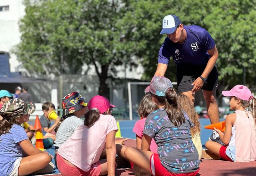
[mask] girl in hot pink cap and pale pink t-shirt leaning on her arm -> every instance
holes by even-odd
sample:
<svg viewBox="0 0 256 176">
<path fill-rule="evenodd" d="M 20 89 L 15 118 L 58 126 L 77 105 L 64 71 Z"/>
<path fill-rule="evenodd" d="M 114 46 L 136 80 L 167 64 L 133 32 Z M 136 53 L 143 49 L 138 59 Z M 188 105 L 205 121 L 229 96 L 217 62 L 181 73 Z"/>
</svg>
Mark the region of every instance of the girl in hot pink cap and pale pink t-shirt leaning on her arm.
<svg viewBox="0 0 256 176">
<path fill-rule="evenodd" d="M 79 126 L 58 150 L 57 165 L 63 176 L 115 175 L 118 127 L 111 115 L 114 107 L 105 97 L 97 95 L 90 99 L 84 125 Z M 100 159 L 104 148 L 107 159 Z"/>
</svg>

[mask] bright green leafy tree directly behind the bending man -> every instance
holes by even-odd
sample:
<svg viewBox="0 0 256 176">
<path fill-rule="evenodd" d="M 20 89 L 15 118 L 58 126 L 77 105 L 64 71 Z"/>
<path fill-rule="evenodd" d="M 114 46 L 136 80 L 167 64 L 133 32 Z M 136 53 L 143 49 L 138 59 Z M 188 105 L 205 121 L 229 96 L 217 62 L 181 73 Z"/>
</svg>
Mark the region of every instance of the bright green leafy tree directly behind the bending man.
<svg viewBox="0 0 256 176">
<path fill-rule="evenodd" d="M 184 25 L 196 24 L 208 30 L 219 51 L 220 91 L 236 84 L 254 86 L 256 47 L 255 0 L 180 0 L 126 2 L 123 23 L 125 36 L 137 41 L 135 55 L 142 58 L 144 78 L 150 80 L 157 66 L 159 48 L 165 35 L 159 35 L 162 19 L 176 14 Z M 124 25 L 123 25 L 124 26 Z M 166 76 L 176 80 L 175 64 L 170 60 Z M 246 79 L 243 80 L 246 75 Z"/>
</svg>

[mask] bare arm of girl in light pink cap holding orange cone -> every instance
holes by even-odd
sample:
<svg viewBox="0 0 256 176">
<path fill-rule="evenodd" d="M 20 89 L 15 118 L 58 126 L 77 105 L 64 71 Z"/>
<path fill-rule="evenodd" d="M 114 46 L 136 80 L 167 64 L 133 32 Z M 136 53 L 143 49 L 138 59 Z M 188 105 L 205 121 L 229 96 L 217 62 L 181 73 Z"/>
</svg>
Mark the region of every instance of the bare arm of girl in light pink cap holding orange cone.
<svg viewBox="0 0 256 176">
<path fill-rule="evenodd" d="M 232 135 L 232 126 L 234 125 L 235 121 L 236 121 L 236 114 L 229 114 L 226 117 L 226 127 L 225 127 L 225 133 L 223 133 L 222 131 L 214 128 L 214 130 L 216 130 L 216 132 L 220 135 L 220 139 L 221 141 L 225 144 L 228 145 L 228 143 L 230 142 L 231 139 L 231 135 Z"/>
</svg>

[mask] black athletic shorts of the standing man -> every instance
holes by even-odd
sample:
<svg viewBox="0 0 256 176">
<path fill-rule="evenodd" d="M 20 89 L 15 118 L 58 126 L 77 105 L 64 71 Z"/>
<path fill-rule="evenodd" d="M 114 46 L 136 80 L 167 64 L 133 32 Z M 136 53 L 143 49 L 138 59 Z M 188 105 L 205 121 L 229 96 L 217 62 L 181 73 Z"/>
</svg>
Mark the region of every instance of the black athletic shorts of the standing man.
<svg viewBox="0 0 256 176">
<path fill-rule="evenodd" d="M 177 84 L 179 93 L 191 91 L 194 86 L 191 84 L 203 73 L 206 65 L 177 64 Z M 218 70 L 213 67 L 207 80 L 202 87 L 203 90 L 218 89 Z"/>
</svg>

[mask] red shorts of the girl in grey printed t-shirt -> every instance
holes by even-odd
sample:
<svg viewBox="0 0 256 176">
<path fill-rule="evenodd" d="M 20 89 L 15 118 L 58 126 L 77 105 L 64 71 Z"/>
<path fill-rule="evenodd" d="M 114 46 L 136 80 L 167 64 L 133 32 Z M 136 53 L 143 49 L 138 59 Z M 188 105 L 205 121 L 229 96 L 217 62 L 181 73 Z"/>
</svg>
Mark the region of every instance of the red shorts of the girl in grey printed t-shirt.
<svg viewBox="0 0 256 176">
<path fill-rule="evenodd" d="M 184 174 L 171 173 L 161 164 L 158 154 L 154 153 L 150 157 L 150 170 L 154 176 L 196 176 L 200 169 L 197 169 L 195 172 Z"/>
</svg>

